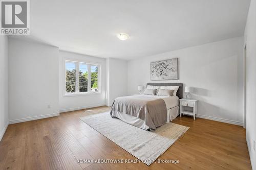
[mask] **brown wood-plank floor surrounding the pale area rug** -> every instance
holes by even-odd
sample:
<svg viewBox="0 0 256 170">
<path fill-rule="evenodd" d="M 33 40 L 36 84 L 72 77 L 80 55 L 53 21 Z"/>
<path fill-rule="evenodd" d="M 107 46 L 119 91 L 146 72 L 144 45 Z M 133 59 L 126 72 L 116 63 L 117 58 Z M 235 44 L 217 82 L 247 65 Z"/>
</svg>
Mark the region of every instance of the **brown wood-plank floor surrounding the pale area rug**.
<svg viewBox="0 0 256 170">
<path fill-rule="evenodd" d="M 190 129 L 158 158 L 177 164 L 77 163 L 136 159 L 79 119 L 109 110 L 97 107 L 9 125 L 0 142 L 0 169 L 251 169 L 242 127 L 186 116 L 173 123 Z"/>
</svg>

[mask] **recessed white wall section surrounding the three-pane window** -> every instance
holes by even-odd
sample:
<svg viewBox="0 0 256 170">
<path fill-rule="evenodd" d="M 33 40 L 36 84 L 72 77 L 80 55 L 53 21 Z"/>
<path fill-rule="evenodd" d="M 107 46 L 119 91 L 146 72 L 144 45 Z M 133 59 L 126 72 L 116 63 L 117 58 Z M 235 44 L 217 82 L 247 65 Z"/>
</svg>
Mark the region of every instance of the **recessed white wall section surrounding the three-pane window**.
<svg viewBox="0 0 256 170">
<path fill-rule="evenodd" d="M 75 96 L 65 96 L 65 59 L 96 63 L 100 65 L 100 85 L 101 92 L 96 94 L 82 94 Z M 105 105 L 105 59 L 86 56 L 70 52 L 59 52 L 59 107 L 60 112 L 79 110 L 90 107 Z"/>
</svg>

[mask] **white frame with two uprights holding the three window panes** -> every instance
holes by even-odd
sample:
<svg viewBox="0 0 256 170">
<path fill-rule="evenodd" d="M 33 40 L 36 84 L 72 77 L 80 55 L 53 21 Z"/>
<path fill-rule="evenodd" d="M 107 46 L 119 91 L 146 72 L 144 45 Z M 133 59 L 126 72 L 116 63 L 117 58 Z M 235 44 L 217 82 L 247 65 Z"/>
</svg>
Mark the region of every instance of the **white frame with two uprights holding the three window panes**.
<svg viewBox="0 0 256 170">
<path fill-rule="evenodd" d="M 66 92 L 66 62 L 74 63 L 76 66 L 76 92 L 67 93 Z M 79 64 L 86 64 L 88 66 L 88 91 L 87 92 L 79 92 Z M 91 91 L 91 66 L 98 66 L 98 91 L 92 92 Z M 64 59 L 63 60 L 63 96 L 74 96 L 74 95 L 93 95 L 93 94 L 101 94 L 101 64 L 99 63 L 91 63 L 81 60 L 74 60 L 74 59 Z"/>
</svg>

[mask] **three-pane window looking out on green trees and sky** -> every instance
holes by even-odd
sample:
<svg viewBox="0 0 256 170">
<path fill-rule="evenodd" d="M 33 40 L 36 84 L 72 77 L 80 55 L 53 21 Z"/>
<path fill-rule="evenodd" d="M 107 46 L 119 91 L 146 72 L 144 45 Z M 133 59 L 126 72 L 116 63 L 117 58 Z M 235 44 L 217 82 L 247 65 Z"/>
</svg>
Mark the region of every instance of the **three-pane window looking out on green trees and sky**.
<svg viewBox="0 0 256 170">
<path fill-rule="evenodd" d="M 65 61 L 65 93 L 83 94 L 100 92 L 99 69 L 99 65 Z"/>
</svg>

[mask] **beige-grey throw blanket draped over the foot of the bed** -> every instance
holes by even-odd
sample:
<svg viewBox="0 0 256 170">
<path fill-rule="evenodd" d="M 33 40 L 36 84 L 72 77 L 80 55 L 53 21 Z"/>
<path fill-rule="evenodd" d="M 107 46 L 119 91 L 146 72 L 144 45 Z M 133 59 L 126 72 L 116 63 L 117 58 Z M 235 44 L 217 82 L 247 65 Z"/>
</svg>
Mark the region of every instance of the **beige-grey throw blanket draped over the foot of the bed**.
<svg viewBox="0 0 256 170">
<path fill-rule="evenodd" d="M 111 116 L 117 112 L 130 114 L 145 121 L 152 130 L 166 123 L 167 110 L 164 100 L 139 95 L 116 98 L 111 107 Z"/>
</svg>

